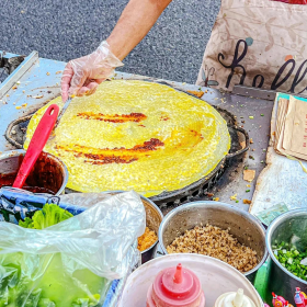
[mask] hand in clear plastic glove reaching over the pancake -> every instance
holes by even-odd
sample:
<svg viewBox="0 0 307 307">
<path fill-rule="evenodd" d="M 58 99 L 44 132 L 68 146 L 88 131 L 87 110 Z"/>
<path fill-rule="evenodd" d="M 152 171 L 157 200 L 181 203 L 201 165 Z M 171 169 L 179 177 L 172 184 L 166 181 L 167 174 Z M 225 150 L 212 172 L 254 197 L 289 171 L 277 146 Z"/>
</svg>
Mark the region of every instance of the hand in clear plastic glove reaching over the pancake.
<svg viewBox="0 0 307 307">
<path fill-rule="evenodd" d="M 112 76 L 116 67 L 123 66 L 104 41 L 92 54 L 70 60 L 64 69 L 60 87 L 65 102 L 69 95 L 89 95 L 98 86 Z"/>
</svg>

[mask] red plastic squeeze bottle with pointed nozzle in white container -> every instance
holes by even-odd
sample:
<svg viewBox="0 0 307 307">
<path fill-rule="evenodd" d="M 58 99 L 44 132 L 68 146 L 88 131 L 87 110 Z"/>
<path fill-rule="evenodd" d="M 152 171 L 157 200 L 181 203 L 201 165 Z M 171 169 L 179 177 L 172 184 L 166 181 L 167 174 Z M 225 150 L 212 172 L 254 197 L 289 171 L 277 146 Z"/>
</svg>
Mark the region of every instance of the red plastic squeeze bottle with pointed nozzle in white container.
<svg viewBox="0 0 307 307">
<path fill-rule="evenodd" d="M 205 307 L 197 276 L 181 264 L 161 271 L 148 289 L 147 307 Z"/>
</svg>

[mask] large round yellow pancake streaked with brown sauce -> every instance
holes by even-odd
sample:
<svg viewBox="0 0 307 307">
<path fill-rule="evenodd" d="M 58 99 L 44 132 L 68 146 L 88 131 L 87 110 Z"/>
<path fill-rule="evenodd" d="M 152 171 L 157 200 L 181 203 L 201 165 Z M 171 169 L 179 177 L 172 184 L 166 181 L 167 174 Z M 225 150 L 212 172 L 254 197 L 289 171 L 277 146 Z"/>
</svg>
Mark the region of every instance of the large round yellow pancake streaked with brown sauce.
<svg viewBox="0 0 307 307">
<path fill-rule="evenodd" d="M 62 107 L 60 98 L 52 103 Z M 25 149 L 49 104 L 32 117 Z M 75 98 L 44 150 L 67 166 L 69 189 L 154 196 L 202 179 L 229 148 L 227 124 L 206 102 L 167 86 L 118 80 Z"/>
</svg>

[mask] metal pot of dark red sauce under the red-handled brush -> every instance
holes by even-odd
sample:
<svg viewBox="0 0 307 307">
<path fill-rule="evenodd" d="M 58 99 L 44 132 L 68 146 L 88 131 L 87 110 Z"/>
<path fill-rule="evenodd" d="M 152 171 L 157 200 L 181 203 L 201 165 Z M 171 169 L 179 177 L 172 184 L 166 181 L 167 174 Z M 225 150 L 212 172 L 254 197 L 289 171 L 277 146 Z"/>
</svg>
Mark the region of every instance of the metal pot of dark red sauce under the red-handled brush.
<svg viewBox="0 0 307 307">
<path fill-rule="evenodd" d="M 0 175 L 16 174 L 22 163 L 25 151 L 22 149 L 4 151 L 0 155 Z M 46 152 L 38 157 L 27 183 L 31 186 L 44 187 L 55 195 L 64 193 L 68 181 L 68 171 L 64 162 Z"/>
</svg>

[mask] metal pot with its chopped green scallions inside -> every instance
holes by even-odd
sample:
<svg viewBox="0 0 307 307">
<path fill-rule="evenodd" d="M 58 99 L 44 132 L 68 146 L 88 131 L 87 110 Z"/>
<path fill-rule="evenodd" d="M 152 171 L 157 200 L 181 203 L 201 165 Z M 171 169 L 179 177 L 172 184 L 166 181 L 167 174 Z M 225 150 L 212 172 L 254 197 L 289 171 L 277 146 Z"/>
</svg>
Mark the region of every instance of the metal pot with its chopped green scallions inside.
<svg viewBox="0 0 307 307">
<path fill-rule="evenodd" d="M 295 287 L 307 287 L 307 209 L 284 213 L 266 231 L 270 253 L 268 298 L 278 293 L 292 302 Z"/>
</svg>

